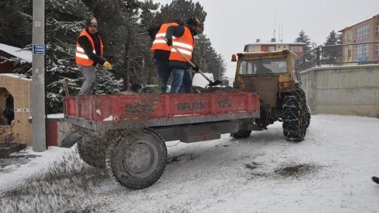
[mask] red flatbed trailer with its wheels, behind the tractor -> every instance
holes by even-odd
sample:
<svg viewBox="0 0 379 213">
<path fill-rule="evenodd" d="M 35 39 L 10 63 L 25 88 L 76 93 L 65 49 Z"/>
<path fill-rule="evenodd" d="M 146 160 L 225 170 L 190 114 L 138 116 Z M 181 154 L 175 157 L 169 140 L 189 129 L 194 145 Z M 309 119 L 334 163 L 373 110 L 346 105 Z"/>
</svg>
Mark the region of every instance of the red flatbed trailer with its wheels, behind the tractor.
<svg viewBox="0 0 379 213">
<path fill-rule="evenodd" d="M 82 159 L 107 166 L 123 186 L 140 189 L 162 175 L 165 141 L 191 143 L 251 132 L 254 127 L 246 124 L 260 117 L 260 97 L 252 92 L 70 96 L 64 113 L 83 133 Z"/>
</svg>

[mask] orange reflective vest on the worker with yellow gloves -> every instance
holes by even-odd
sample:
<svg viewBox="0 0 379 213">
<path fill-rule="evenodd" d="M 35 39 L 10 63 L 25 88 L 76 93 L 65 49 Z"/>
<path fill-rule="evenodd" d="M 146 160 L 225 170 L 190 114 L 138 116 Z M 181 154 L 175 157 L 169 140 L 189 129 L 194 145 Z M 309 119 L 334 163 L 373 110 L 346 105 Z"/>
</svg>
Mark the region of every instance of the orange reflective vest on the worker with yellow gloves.
<svg viewBox="0 0 379 213">
<path fill-rule="evenodd" d="M 82 35 L 84 35 L 88 38 L 89 42 L 92 45 L 92 52 L 94 54 L 96 54 L 96 50 L 95 50 L 95 46 L 94 46 L 94 42 L 93 42 L 92 37 L 88 34 L 88 32 L 85 29 L 80 33 L 79 37 Z M 85 54 L 84 49 L 79 44 L 79 37 L 78 37 L 78 42 L 76 42 L 76 51 L 75 51 L 76 64 L 84 66 L 84 67 L 92 66 L 94 61 L 90 60 L 88 58 L 88 56 Z M 100 35 L 99 35 L 99 40 L 100 40 L 100 57 L 102 58 L 104 46 L 103 46 L 103 41 L 102 41 Z"/>
</svg>

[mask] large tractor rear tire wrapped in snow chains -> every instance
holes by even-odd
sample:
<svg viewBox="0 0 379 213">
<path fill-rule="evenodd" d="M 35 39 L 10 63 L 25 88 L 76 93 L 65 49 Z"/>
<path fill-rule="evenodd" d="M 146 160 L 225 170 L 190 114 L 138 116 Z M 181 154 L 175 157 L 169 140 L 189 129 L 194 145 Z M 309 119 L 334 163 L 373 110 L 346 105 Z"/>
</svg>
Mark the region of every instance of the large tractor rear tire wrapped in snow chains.
<svg viewBox="0 0 379 213">
<path fill-rule="evenodd" d="M 286 95 L 283 100 L 283 135 L 288 141 L 300 142 L 305 136 L 305 112 L 297 93 Z"/>
</svg>

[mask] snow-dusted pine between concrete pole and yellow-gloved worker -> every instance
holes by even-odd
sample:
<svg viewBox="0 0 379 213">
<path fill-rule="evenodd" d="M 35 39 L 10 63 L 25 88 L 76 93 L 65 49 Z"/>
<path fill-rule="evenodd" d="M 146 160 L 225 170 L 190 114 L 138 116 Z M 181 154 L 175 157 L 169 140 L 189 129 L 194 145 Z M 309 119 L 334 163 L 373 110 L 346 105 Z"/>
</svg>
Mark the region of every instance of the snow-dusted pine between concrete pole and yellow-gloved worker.
<svg viewBox="0 0 379 213">
<path fill-rule="evenodd" d="M 31 5 L 31 1 L 25 1 L 25 4 Z M 31 10 L 25 11 L 25 14 L 30 13 L 28 15 L 31 16 L 31 12 Z M 68 80 L 72 94 L 77 94 L 82 84 L 82 76 L 75 63 L 75 46 L 78 35 L 86 26 L 85 21 L 90 17 L 90 12 L 80 0 L 49 0 L 46 1 L 45 15 L 45 85 L 48 103 L 46 110 L 48 113 L 59 113 L 63 108 L 63 80 Z M 30 47 L 30 44 L 28 46 Z M 120 91 L 120 85 L 118 85 L 120 81 L 111 73 L 100 70 L 97 72 L 95 93 Z M 20 73 L 31 75 L 31 69 L 20 70 Z"/>
</svg>

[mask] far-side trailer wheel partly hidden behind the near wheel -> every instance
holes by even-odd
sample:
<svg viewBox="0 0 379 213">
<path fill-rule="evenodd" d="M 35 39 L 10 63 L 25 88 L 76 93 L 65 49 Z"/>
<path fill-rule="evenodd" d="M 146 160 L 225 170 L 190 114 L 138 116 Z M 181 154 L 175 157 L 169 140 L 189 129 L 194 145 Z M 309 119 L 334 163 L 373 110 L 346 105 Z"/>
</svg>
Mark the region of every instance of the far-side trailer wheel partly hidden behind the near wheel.
<svg viewBox="0 0 379 213">
<path fill-rule="evenodd" d="M 102 138 L 84 134 L 77 143 L 80 158 L 89 166 L 104 168 L 106 147 Z"/>
</svg>

